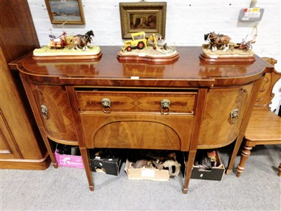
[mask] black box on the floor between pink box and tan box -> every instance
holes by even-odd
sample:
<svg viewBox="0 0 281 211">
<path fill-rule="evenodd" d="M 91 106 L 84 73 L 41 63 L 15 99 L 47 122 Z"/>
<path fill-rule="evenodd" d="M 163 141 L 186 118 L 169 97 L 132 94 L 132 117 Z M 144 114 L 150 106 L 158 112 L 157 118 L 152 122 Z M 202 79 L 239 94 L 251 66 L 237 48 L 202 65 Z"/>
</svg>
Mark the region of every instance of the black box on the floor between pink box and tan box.
<svg viewBox="0 0 281 211">
<path fill-rule="evenodd" d="M 103 158 L 95 156 L 90 158 L 92 172 L 119 175 L 122 167 L 122 158 Z"/>
</svg>

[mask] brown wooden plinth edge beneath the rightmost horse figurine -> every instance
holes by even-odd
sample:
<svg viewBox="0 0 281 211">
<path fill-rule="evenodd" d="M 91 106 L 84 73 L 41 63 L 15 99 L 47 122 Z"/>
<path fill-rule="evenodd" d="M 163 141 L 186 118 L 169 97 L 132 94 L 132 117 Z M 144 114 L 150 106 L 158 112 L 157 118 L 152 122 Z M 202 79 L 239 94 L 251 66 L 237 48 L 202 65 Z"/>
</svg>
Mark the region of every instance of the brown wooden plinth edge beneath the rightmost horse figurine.
<svg viewBox="0 0 281 211">
<path fill-rule="evenodd" d="M 256 58 L 254 56 L 208 56 L 205 53 L 201 53 L 200 60 L 204 60 L 208 63 L 253 63 Z"/>
</svg>

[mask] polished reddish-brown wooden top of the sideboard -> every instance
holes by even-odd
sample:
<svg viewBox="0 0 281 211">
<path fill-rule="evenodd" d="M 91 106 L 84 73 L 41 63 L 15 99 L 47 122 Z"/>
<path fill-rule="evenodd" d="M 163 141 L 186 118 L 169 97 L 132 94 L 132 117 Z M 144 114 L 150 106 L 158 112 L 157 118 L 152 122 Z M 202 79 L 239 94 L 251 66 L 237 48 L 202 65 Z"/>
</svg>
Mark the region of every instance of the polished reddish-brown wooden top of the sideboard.
<svg viewBox="0 0 281 211">
<path fill-rule="evenodd" d="M 259 56 L 253 63 L 207 63 L 200 60 L 200 46 L 176 47 L 173 63 L 120 62 L 120 46 L 100 46 L 100 60 L 34 60 L 32 53 L 10 63 L 11 69 L 34 81 L 72 85 L 213 87 L 246 84 L 273 66 Z"/>
</svg>

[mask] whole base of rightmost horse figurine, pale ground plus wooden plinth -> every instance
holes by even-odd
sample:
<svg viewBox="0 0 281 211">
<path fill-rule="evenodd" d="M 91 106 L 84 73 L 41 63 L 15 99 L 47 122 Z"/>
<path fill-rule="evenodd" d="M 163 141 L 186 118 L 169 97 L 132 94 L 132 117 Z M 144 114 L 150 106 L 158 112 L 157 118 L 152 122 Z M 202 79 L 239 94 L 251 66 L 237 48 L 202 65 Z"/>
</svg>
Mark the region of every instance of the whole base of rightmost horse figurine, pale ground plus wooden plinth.
<svg viewBox="0 0 281 211">
<path fill-rule="evenodd" d="M 240 49 L 231 48 L 231 46 L 227 51 L 211 51 L 206 45 L 203 45 L 202 51 L 199 58 L 211 63 L 251 63 L 256 60 L 253 51 L 242 51 Z"/>
</svg>

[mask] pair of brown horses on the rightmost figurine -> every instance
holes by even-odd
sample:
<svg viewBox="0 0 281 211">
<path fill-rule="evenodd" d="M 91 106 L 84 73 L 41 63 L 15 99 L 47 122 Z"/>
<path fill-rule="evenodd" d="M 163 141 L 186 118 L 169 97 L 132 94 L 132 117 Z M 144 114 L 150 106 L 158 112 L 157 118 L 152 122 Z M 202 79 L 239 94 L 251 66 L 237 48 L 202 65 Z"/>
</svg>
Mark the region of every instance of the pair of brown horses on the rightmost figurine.
<svg viewBox="0 0 281 211">
<path fill-rule="evenodd" d="M 216 34 L 215 32 L 210 32 L 208 34 L 204 34 L 204 40 L 208 40 L 211 51 L 216 51 L 217 49 L 223 49 L 223 51 L 227 51 L 229 49 L 230 37 L 228 35 Z"/>
</svg>

